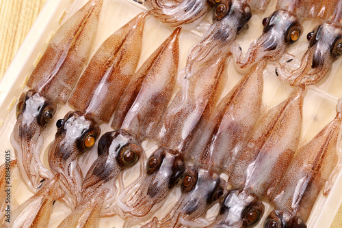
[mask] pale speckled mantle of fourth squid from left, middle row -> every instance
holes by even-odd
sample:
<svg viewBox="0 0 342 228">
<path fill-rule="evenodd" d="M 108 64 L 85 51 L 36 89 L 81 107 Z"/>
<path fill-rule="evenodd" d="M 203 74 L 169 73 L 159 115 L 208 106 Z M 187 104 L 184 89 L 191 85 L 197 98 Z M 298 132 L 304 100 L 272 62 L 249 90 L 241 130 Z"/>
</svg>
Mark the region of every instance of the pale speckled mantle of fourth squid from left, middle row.
<svg viewBox="0 0 342 228">
<path fill-rule="evenodd" d="M 228 55 L 212 57 L 188 79 L 172 100 L 153 137 L 164 147 L 181 149 L 191 132 L 209 119 L 226 81 Z"/>
</svg>

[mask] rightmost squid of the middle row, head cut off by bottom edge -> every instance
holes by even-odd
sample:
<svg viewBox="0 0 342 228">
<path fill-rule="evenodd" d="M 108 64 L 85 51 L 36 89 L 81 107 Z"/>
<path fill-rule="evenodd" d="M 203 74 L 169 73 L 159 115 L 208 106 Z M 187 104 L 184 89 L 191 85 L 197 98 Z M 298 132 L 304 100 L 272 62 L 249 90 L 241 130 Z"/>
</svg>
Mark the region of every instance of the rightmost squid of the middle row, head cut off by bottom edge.
<svg viewBox="0 0 342 228">
<path fill-rule="evenodd" d="M 293 158 L 278 190 L 272 196 L 276 209 L 265 220 L 265 227 L 278 225 L 287 227 L 304 224 L 313 205 L 324 187 L 327 195 L 331 188 L 331 176 L 337 169 L 341 152 L 338 152 L 341 132 L 341 103 L 337 105 L 337 115 L 311 141 L 300 147 Z"/>
</svg>

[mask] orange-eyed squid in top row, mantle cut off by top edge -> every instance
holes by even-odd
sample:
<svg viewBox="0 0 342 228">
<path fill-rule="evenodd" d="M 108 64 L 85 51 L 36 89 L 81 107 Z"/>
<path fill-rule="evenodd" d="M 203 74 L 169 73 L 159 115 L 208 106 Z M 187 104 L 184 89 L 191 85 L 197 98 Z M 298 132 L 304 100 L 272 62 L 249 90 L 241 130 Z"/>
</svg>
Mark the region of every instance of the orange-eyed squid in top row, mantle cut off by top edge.
<svg viewBox="0 0 342 228">
<path fill-rule="evenodd" d="M 263 34 L 250 44 L 246 55 L 237 42 L 232 45 L 237 70 L 244 71 L 262 59 L 278 61 L 303 33 L 299 18 L 315 18 L 318 10 L 317 1 L 278 1 L 276 11 L 263 19 Z"/>
</svg>

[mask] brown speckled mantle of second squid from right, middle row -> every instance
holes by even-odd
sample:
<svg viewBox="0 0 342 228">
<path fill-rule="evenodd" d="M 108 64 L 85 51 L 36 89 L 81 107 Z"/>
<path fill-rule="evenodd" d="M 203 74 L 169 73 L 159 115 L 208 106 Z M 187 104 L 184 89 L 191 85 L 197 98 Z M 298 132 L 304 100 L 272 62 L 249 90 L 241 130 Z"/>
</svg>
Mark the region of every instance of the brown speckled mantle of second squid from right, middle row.
<svg viewBox="0 0 342 228">
<path fill-rule="evenodd" d="M 237 187 L 245 184 L 258 196 L 272 195 L 298 146 L 304 94 L 304 88 L 295 89 L 261 115 L 228 182 Z"/>
</svg>

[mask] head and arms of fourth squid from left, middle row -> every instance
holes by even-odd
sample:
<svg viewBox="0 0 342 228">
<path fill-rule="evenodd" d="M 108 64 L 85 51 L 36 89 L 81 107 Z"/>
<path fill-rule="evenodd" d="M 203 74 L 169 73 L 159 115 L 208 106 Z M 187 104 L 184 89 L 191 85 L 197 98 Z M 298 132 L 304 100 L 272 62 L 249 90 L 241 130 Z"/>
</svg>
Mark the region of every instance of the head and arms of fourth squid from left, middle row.
<svg viewBox="0 0 342 228">
<path fill-rule="evenodd" d="M 182 154 L 172 149 L 159 148 L 148 158 L 146 165 L 146 177 L 140 186 L 132 186 L 120 194 L 117 204 L 126 220 L 124 227 L 130 227 L 133 223 L 147 220 L 161 208 L 171 188 L 179 182 L 185 171 L 185 162 Z M 137 189 L 135 189 L 137 187 Z M 134 191 L 133 194 L 131 191 Z M 126 199 L 122 203 L 122 199 Z"/>
</svg>

